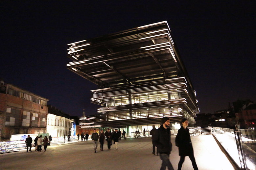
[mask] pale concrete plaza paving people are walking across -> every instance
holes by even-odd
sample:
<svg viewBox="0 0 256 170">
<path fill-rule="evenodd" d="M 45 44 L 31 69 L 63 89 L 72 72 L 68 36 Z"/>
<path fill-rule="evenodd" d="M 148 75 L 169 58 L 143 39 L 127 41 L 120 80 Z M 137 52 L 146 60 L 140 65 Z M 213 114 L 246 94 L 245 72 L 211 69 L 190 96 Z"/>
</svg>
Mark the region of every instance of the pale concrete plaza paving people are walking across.
<svg viewBox="0 0 256 170">
<path fill-rule="evenodd" d="M 175 146 L 175 136 L 171 137 L 173 151 L 170 155 L 175 170 L 178 167 L 178 147 Z M 191 136 L 194 154 L 199 170 L 237 170 L 225 153 L 216 143 L 212 135 Z M 131 138 L 121 140 L 118 150 L 114 144 L 107 150 L 94 153 L 93 144 L 88 142 L 72 142 L 48 146 L 47 151 L 19 152 L 0 154 L 1 170 L 157 170 L 162 161 L 152 154 L 151 138 Z M 192 170 L 192 163 L 185 158 L 182 170 Z"/>
</svg>

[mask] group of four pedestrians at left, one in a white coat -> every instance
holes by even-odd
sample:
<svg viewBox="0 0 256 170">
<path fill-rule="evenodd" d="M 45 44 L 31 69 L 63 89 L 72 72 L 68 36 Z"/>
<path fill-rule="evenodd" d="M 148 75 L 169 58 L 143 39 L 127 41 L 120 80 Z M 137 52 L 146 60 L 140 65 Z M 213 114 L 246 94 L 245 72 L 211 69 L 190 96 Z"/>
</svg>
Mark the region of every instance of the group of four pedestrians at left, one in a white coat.
<svg viewBox="0 0 256 170">
<path fill-rule="evenodd" d="M 25 140 L 25 143 L 27 145 L 27 152 L 28 151 L 32 152 L 32 150 L 31 150 L 32 142 L 33 142 L 32 138 L 30 137 L 30 135 L 28 135 L 28 137 Z M 45 136 L 44 139 L 42 139 L 42 135 L 40 135 L 39 137 L 36 136 L 34 142 L 35 142 L 34 145 L 35 145 L 35 150 L 36 151 L 41 152 L 42 144 L 44 146 L 44 151 L 46 151 L 47 145 L 52 143 L 52 137 L 50 135 L 49 140 L 48 140 L 47 136 Z"/>
</svg>

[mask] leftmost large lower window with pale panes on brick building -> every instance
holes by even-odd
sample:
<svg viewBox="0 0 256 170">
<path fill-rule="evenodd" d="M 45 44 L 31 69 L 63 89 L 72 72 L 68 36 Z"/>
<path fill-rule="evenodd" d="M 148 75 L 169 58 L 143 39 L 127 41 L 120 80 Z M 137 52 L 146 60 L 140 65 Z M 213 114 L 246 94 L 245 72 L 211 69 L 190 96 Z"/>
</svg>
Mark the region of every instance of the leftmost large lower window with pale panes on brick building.
<svg viewBox="0 0 256 170">
<path fill-rule="evenodd" d="M 5 126 L 20 126 L 19 118 L 20 110 L 7 108 Z"/>
</svg>

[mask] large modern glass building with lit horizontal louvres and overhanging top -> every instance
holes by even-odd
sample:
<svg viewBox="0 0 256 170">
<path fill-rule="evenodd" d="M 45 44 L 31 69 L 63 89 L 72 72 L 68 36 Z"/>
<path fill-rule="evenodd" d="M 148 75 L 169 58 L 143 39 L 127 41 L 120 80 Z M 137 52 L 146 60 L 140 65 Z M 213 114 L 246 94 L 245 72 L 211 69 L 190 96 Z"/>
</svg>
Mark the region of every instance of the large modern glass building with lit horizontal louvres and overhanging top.
<svg viewBox="0 0 256 170">
<path fill-rule="evenodd" d="M 166 21 L 68 45 L 67 68 L 99 87 L 91 101 L 101 118 L 87 127 L 149 131 L 163 116 L 172 129 L 183 117 L 195 124 L 196 92 Z"/>
</svg>

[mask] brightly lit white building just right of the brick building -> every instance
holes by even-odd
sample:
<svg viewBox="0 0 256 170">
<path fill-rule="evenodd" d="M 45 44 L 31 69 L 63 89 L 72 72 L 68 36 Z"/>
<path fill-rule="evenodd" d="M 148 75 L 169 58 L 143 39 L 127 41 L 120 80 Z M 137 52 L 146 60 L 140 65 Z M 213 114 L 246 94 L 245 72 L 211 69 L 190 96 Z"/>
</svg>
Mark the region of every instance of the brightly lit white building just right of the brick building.
<svg viewBox="0 0 256 170">
<path fill-rule="evenodd" d="M 71 128 L 73 121 L 69 119 L 69 115 L 61 110 L 48 105 L 47 133 L 52 137 L 62 137 L 64 134 L 72 134 Z"/>
</svg>

